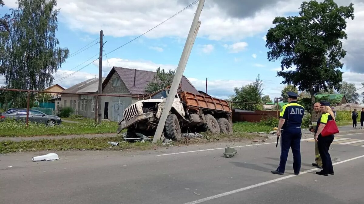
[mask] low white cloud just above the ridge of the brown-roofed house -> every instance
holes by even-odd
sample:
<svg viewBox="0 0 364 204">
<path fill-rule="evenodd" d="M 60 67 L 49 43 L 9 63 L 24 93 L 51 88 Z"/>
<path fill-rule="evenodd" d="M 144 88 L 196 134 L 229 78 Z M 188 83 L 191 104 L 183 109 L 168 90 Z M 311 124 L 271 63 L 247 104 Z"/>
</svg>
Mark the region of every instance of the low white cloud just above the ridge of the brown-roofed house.
<svg viewBox="0 0 364 204">
<path fill-rule="evenodd" d="M 109 66 L 110 64 L 110 66 Z M 94 62 L 95 66 L 99 66 L 99 61 Z M 123 68 L 129 68 L 129 69 L 141 69 L 141 70 L 147 70 L 147 71 L 155 71 L 158 67 L 165 69 L 165 70 L 174 70 L 177 68 L 175 65 L 165 65 L 165 64 L 156 64 L 151 61 L 145 61 L 145 60 L 125 60 L 121 58 L 110 58 L 107 60 L 102 61 L 102 70 L 104 72 L 104 75 L 110 72 L 111 68 L 113 66 L 119 66 Z"/>
</svg>

